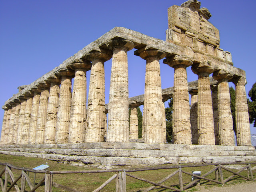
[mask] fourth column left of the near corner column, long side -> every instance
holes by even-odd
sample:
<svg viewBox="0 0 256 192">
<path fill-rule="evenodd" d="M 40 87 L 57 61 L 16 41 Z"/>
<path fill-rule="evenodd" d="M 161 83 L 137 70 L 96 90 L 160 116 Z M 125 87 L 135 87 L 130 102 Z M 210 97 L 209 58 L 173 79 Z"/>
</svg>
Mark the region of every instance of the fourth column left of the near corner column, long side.
<svg viewBox="0 0 256 192">
<path fill-rule="evenodd" d="M 59 95 L 60 95 L 60 79 L 48 78 L 46 80 L 50 84 L 50 92 L 46 113 L 46 125 L 45 125 L 45 144 L 55 144 L 56 135 L 56 123 L 57 123 L 57 112 L 59 106 Z"/>
</svg>

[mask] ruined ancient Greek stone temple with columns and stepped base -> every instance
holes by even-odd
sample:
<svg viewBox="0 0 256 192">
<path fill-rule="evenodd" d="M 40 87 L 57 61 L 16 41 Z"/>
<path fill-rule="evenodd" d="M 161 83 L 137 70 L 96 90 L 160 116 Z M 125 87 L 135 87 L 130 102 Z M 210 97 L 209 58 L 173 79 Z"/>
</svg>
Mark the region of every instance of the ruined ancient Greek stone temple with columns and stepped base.
<svg viewBox="0 0 256 192">
<path fill-rule="evenodd" d="M 106 165 L 255 161 L 245 72 L 220 48 L 219 31 L 208 21 L 212 15 L 200 4 L 189 0 L 168 8 L 166 41 L 116 27 L 20 86 L 2 107 L 0 153 Z M 145 92 L 129 98 L 127 52 L 132 49 L 146 64 Z M 104 62 L 110 59 L 106 104 L 104 69 L 109 66 Z M 162 90 L 160 65 L 165 64 L 174 68 L 174 85 Z M 187 81 L 189 66 L 198 76 L 193 82 Z M 236 137 L 228 82 L 236 87 Z M 170 98 L 171 144 L 166 142 L 164 110 Z M 141 105 L 139 139 L 136 108 Z"/>
</svg>

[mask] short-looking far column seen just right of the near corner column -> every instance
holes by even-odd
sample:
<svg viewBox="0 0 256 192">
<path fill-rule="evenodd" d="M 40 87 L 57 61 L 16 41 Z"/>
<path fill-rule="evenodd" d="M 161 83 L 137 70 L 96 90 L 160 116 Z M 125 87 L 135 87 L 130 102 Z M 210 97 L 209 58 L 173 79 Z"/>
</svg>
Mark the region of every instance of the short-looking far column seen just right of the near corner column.
<svg viewBox="0 0 256 192">
<path fill-rule="evenodd" d="M 139 138 L 137 107 L 138 107 L 138 105 L 131 106 L 129 139 L 138 139 Z"/>
</svg>

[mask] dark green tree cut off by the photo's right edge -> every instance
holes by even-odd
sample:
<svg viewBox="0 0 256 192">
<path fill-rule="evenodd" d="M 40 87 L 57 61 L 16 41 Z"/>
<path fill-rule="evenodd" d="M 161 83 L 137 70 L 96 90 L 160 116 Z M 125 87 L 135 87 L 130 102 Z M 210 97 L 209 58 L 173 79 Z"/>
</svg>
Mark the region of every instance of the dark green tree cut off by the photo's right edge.
<svg viewBox="0 0 256 192">
<path fill-rule="evenodd" d="M 248 101 L 248 111 L 250 123 L 254 123 L 253 126 L 256 127 L 256 82 L 252 85 L 251 90 L 248 93 L 251 101 Z"/>
</svg>

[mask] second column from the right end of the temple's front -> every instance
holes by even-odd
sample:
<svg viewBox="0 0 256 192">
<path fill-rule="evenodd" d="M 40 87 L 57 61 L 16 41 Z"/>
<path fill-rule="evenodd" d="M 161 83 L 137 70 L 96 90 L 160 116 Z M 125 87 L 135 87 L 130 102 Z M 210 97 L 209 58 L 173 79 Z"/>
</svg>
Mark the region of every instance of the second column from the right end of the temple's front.
<svg viewBox="0 0 256 192">
<path fill-rule="evenodd" d="M 234 146 L 233 119 L 230 109 L 228 80 L 233 75 L 225 70 L 215 71 L 212 77 L 218 81 L 218 129 L 220 145 Z"/>
</svg>

